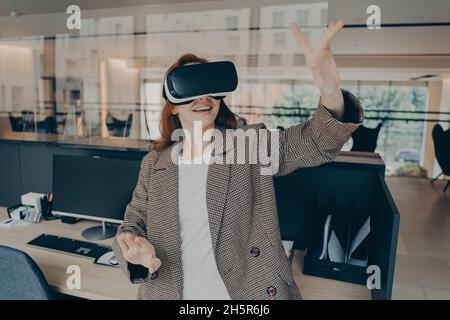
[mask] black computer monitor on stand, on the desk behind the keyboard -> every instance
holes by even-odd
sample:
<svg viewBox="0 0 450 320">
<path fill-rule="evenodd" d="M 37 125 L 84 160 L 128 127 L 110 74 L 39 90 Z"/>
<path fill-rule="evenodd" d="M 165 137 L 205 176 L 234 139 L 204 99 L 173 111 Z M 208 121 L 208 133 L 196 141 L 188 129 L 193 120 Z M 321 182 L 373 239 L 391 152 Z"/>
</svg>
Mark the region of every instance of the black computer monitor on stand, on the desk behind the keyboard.
<svg viewBox="0 0 450 320">
<path fill-rule="evenodd" d="M 91 240 L 115 235 L 108 223 L 123 221 L 140 170 L 140 160 L 53 156 L 53 214 L 102 222 L 83 231 Z"/>
</svg>

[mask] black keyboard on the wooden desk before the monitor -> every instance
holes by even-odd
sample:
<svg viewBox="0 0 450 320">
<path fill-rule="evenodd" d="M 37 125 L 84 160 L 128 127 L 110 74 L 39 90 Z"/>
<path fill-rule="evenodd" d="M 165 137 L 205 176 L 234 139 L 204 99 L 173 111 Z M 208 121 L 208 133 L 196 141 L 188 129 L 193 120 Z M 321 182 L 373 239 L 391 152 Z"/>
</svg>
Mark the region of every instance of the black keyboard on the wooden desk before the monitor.
<svg viewBox="0 0 450 320">
<path fill-rule="evenodd" d="M 94 259 L 97 259 L 112 250 L 109 246 L 54 236 L 46 233 L 41 234 L 39 237 L 31 240 L 27 244 L 43 249 L 56 250 L 63 253 L 75 254 Z"/>
</svg>

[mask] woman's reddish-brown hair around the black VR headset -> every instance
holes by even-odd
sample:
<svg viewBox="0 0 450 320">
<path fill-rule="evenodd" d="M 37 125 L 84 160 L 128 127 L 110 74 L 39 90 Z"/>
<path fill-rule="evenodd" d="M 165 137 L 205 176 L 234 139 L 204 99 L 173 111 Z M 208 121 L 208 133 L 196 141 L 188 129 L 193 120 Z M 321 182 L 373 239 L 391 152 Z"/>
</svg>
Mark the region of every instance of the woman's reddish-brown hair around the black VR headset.
<svg viewBox="0 0 450 320">
<path fill-rule="evenodd" d="M 170 71 L 172 71 L 172 69 L 183 66 L 188 63 L 206 63 L 206 62 L 208 62 L 208 60 L 204 58 L 199 58 L 195 54 L 186 53 L 182 55 L 177 60 L 177 62 L 175 62 L 173 65 L 169 67 L 169 69 L 166 72 L 166 75 Z M 174 105 L 171 104 L 169 100 L 166 100 L 161 110 L 161 118 L 159 124 L 161 137 L 153 144 L 154 150 L 162 151 L 171 144 L 173 144 L 174 141 L 171 140 L 172 132 L 176 129 L 182 128 L 178 115 L 176 114 L 174 115 L 171 112 L 173 107 Z M 216 126 L 224 127 L 227 129 L 235 129 L 237 126 L 235 114 L 227 107 L 223 99 L 220 100 L 219 112 L 217 114 L 215 124 Z"/>
</svg>

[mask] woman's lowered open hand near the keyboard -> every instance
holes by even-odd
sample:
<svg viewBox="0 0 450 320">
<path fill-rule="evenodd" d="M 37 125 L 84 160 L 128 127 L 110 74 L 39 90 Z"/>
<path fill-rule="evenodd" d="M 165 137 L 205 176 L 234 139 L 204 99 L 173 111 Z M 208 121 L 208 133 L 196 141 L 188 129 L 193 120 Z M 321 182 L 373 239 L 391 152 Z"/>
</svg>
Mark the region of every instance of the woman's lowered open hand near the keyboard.
<svg viewBox="0 0 450 320">
<path fill-rule="evenodd" d="M 155 255 L 155 248 L 142 237 L 137 237 L 129 232 L 117 236 L 122 255 L 132 264 L 140 264 L 153 273 L 161 266 L 161 260 Z"/>
</svg>

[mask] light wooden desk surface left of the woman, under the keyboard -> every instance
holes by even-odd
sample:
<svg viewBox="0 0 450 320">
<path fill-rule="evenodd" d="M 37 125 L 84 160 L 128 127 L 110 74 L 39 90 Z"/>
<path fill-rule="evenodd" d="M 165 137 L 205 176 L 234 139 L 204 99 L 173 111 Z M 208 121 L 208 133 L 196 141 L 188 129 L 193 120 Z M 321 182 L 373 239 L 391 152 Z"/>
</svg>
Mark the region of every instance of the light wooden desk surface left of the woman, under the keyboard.
<svg viewBox="0 0 450 320">
<path fill-rule="evenodd" d="M 0 218 L 7 218 L 4 207 L 0 207 Z M 57 292 L 86 299 L 136 299 L 138 286 L 131 284 L 119 268 L 101 266 L 94 264 L 91 259 L 26 245 L 28 241 L 42 233 L 85 240 L 81 237 L 81 231 L 94 225 L 98 223 L 81 221 L 70 225 L 54 220 L 24 228 L 0 228 L 0 244 L 28 253 L 39 265 L 52 289 Z M 112 245 L 112 239 L 98 243 Z M 66 270 L 70 265 L 80 266 L 80 290 L 70 290 L 66 286 L 66 280 L 70 276 Z"/>
</svg>

